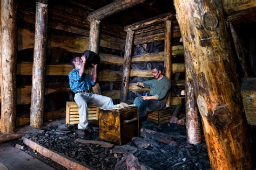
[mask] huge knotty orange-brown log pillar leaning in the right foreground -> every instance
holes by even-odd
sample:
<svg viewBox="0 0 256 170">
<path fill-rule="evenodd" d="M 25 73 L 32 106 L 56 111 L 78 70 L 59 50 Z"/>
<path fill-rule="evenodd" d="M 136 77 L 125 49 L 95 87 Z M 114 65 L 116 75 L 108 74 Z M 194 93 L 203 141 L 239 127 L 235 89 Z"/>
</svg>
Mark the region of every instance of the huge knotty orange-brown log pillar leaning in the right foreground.
<svg viewBox="0 0 256 170">
<path fill-rule="evenodd" d="M 217 1 L 174 0 L 212 169 L 252 169 L 250 135 Z"/>
</svg>

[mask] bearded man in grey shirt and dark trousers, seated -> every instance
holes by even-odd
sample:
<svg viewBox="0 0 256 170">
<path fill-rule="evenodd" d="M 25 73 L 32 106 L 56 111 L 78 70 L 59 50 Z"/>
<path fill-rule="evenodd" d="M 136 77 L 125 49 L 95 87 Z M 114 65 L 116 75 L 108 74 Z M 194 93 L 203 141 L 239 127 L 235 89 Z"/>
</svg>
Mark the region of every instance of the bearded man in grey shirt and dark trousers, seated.
<svg viewBox="0 0 256 170">
<path fill-rule="evenodd" d="M 163 109 L 167 100 L 167 93 L 171 88 L 171 82 L 162 74 L 160 66 L 152 69 L 154 79 L 138 82 L 141 88 L 150 87 L 150 94 L 136 97 L 134 104 L 139 108 L 139 118 L 147 115 L 148 111 Z"/>
</svg>

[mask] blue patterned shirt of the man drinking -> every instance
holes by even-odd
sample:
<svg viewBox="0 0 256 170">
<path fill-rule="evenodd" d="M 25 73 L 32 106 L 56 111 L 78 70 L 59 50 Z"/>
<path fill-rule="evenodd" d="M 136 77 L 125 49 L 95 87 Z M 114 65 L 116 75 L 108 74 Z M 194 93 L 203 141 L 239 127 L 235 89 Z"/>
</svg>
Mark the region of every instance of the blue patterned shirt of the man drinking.
<svg viewBox="0 0 256 170">
<path fill-rule="evenodd" d="M 69 73 L 69 86 L 71 90 L 76 93 L 79 90 L 91 90 L 91 86 L 94 86 L 92 77 L 87 74 L 79 75 L 79 69 L 74 68 Z"/>
</svg>

